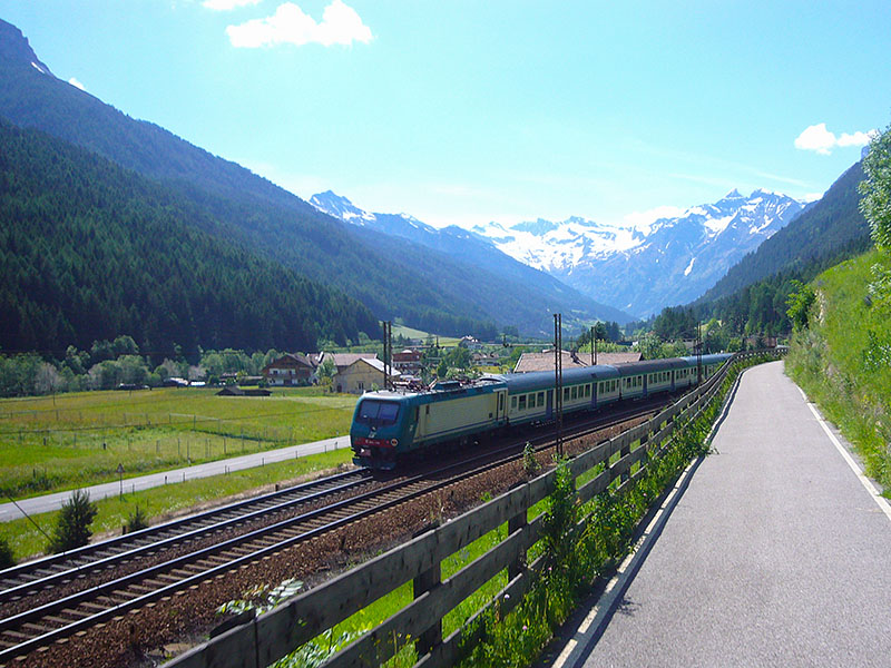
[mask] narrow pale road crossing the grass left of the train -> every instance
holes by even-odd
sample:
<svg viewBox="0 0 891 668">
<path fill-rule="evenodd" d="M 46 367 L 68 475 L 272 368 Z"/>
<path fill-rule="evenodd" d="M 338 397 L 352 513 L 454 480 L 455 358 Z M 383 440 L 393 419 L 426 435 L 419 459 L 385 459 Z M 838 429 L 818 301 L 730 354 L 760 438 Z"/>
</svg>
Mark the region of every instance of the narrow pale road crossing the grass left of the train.
<svg viewBox="0 0 891 668">
<path fill-rule="evenodd" d="M 337 436 L 336 439 L 326 439 L 324 441 L 316 441 L 314 443 L 303 443 L 301 445 L 291 445 L 288 448 L 281 448 L 278 450 L 256 452 L 254 454 L 234 456 L 215 462 L 207 462 L 205 464 L 195 464 L 192 466 L 172 469 L 161 473 L 151 473 L 148 475 L 140 475 L 138 478 L 124 478 L 123 481 L 118 480 L 115 482 L 95 484 L 86 489 L 90 493 L 90 499 L 105 499 L 108 497 L 118 495 L 121 492 L 121 489 L 125 492 L 138 492 L 140 490 L 160 487 L 163 484 L 174 484 L 178 482 L 185 482 L 186 480 L 195 480 L 196 478 L 208 478 L 210 475 L 219 475 L 223 473 L 231 473 L 233 471 L 241 471 L 243 469 L 253 469 L 264 464 L 283 462 L 295 458 L 306 456 L 307 454 L 319 454 L 320 452 L 327 452 L 329 450 L 349 446 L 350 436 Z M 8 522 L 10 520 L 17 520 L 23 517 L 22 510 L 29 515 L 58 510 L 61 508 L 62 503 L 70 498 L 71 492 L 66 491 L 53 494 L 45 494 L 42 497 L 32 497 L 30 499 L 22 499 L 21 501 L 18 501 L 18 507 L 14 503 L 2 503 L 0 504 L 0 522 Z"/>
</svg>

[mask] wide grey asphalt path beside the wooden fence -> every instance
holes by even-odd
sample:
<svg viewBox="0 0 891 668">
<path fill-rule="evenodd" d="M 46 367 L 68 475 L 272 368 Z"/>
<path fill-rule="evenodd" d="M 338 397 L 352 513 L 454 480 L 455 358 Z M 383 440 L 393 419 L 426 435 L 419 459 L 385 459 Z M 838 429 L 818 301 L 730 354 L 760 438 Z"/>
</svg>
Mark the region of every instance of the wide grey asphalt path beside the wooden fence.
<svg viewBox="0 0 891 668">
<path fill-rule="evenodd" d="M 713 446 L 548 664 L 891 666 L 891 508 L 782 362 Z"/>
</svg>

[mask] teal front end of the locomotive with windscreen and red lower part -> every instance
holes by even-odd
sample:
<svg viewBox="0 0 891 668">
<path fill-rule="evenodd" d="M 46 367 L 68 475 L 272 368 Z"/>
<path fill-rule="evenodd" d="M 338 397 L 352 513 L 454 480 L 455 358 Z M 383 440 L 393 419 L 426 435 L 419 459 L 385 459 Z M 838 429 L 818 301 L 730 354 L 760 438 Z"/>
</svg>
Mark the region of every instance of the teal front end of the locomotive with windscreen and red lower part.
<svg viewBox="0 0 891 668">
<path fill-rule="evenodd" d="M 392 470 L 400 452 L 410 449 L 407 396 L 394 392 L 363 394 L 353 413 L 350 443 L 353 463 Z"/>
</svg>

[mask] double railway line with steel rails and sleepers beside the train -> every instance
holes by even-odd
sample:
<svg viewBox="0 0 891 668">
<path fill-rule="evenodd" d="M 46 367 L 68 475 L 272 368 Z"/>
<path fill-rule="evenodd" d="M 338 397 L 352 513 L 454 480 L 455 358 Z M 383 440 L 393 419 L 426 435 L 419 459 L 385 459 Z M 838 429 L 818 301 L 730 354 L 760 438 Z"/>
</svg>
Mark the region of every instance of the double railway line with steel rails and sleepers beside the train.
<svg viewBox="0 0 891 668">
<path fill-rule="evenodd" d="M 569 426 L 566 438 L 577 438 L 587 432 L 607 429 L 627 422 L 640 414 L 656 410 L 655 405 L 638 405 L 634 411 L 600 418 L 595 424 Z M 528 439 L 538 449 L 549 445 L 551 434 L 539 434 Z M 522 442 L 526 442 L 523 439 Z M 30 606 L 0 619 L 0 662 L 26 655 L 60 638 L 69 637 L 157 601 L 164 597 L 197 586 L 199 582 L 222 576 L 243 564 L 286 550 L 300 542 L 334 531 L 369 515 L 407 503 L 456 484 L 473 475 L 505 466 L 522 456 L 521 443 L 516 441 L 500 449 L 435 471 L 408 477 L 371 491 L 354 493 L 371 480 L 365 471 L 356 471 L 317 481 L 325 489 L 300 485 L 292 490 L 268 494 L 252 502 L 239 502 L 217 511 L 202 513 L 178 522 L 170 522 L 129 536 L 129 541 L 114 540 L 69 553 L 67 560 L 47 558 L 28 564 L 28 569 L 10 569 L 0 573 L 4 590 L 0 593 L 0 606 L 9 601 L 26 600 L 36 592 L 46 597 L 52 590 L 65 592 L 66 583 L 74 579 L 92 577 L 97 571 L 107 577 L 99 584 L 87 586 L 74 593 L 63 593 L 42 605 Z M 312 490 L 312 491 L 311 491 Z M 291 498 L 290 494 L 294 494 Z M 224 538 L 206 547 L 188 549 L 214 533 L 226 533 L 232 524 L 244 524 L 252 519 L 267 517 L 283 507 L 293 508 L 306 503 L 307 499 L 323 501 L 337 493 L 352 493 L 346 499 L 324 504 L 321 508 L 274 521 L 257 529 L 247 530 L 232 538 Z M 301 497 L 301 494 L 303 494 Z M 234 513 L 234 514 L 233 514 Z M 170 527 L 176 524 L 177 527 Z M 167 531 L 178 533 L 167 534 Z M 123 537 L 127 538 L 127 537 Z M 177 556 L 164 559 L 147 568 L 126 571 L 125 564 L 138 563 L 139 558 L 160 552 L 168 546 L 185 546 Z M 13 573 L 11 571 L 20 571 Z M 119 577 L 116 577 L 119 576 Z M 2 609 L 0 607 L 0 609 Z"/>
</svg>

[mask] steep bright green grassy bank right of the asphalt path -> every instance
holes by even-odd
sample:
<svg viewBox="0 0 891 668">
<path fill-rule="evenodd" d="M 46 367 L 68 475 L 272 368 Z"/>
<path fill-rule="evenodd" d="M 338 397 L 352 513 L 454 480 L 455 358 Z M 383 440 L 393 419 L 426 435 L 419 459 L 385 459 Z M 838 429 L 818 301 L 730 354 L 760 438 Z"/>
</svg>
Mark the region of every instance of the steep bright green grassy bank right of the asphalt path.
<svg viewBox="0 0 891 668">
<path fill-rule="evenodd" d="M 786 373 L 891 488 L 891 256 L 872 250 L 811 284 L 809 327 L 792 336 Z"/>
</svg>

